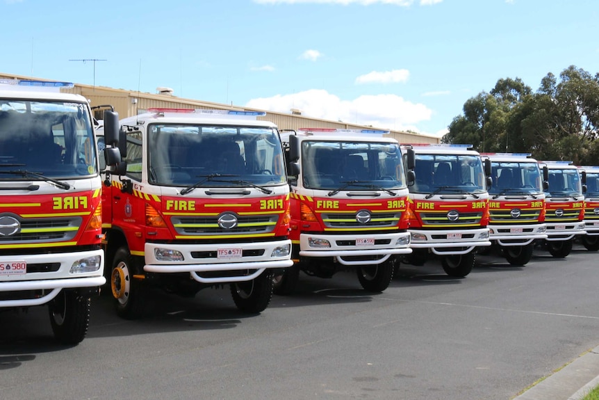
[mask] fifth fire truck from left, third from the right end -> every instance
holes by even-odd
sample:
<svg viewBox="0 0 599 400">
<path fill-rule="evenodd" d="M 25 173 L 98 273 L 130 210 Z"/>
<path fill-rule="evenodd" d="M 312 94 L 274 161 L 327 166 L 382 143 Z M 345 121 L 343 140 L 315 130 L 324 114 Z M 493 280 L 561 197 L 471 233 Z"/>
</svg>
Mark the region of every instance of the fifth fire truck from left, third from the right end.
<svg viewBox="0 0 599 400">
<path fill-rule="evenodd" d="M 534 243 L 545 234 L 543 176 L 530 153 L 483 153 L 491 161 L 489 228 L 491 240 L 511 265 L 524 266 L 532 258 Z"/>
</svg>

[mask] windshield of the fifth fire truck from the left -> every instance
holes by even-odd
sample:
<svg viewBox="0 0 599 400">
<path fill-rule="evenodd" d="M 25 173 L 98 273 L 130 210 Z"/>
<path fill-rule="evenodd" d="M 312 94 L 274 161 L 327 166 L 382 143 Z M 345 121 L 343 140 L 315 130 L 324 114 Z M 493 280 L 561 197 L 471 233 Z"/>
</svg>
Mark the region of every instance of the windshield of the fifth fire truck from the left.
<svg viewBox="0 0 599 400">
<path fill-rule="evenodd" d="M 491 163 L 493 185 L 489 194 L 526 194 L 539 195 L 541 186 L 541 170 L 535 162 L 493 162 Z"/>
</svg>

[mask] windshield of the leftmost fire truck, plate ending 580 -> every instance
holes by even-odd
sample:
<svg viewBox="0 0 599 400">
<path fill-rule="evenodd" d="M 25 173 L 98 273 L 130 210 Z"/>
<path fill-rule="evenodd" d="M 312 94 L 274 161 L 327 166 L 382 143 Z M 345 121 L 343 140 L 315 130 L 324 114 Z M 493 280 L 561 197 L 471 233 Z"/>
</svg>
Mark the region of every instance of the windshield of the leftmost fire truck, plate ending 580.
<svg viewBox="0 0 599 400">
<path fill-rule="evenodd" d="M 77 179 L 97 174 L 87 105 L 0 99 L 0 180 Z"/>
</svg>

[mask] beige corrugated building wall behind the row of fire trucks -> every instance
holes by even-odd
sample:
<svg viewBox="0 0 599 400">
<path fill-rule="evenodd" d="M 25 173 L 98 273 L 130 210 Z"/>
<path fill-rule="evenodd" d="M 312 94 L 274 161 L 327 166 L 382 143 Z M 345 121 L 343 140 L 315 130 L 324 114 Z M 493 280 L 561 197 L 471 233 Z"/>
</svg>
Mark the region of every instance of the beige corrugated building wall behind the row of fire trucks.
<svg viewBox="0 0 599 400">
<path fill-rule="evenodd" d="M 13 74 L 0 73 L 0 79 L 39 79 L 32 77 L 22 77 Z M 41 79 L 44 80 L 44 79 Z M 153 93 L 138 93 L 129 90 L 107 88 L 105 86 L 88 86 L 75 83 L 74 88 L 65 90 L 69 93 L 83 95 L 90 100 L 92 106 L 110 104 L 120 115 L 120 118 L 136 115 L 139 110 L 150 108 L 172 108 L 172 109 L 237 109 L 247 111 L 263 111 L 256 109 L 247 109 L 242 106 L 229 106 L 213 102 L 202 102 L 195 99 L 183 99 L 176 96 L 161 95 Z M 266 111 L 265 117 L 261 120 L 274 122 L 279 129 L 300 129 L 300 128 L 345 128 L 345 129 L 377 129 L 376 127 L 366 127 L 364 125 L 345 124 L 343 122 L 320 120 L 309 118 L 304 115 L 294 115 L 291 113 L 274 113 Z M 391 131 L 391 136 L 400 143 L 439 143 L 440 139 L 432 136 L 413 134 L 404 131 Z"/>
</svg>

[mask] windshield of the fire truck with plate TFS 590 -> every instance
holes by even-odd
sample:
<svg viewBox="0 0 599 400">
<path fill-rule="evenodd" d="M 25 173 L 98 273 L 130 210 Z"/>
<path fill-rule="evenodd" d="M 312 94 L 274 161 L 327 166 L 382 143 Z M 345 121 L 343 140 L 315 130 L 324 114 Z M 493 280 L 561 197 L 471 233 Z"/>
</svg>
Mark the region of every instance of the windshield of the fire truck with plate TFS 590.
<svg viewBox="0 0 599 400">
<path fill-rule="evenodd" d="M 302 173 L 308 189 L 334 190 L 343 186 L 377 190 L 406 186 L 400 149 L 395 143 L 303 141 Z"/>
</svg>

